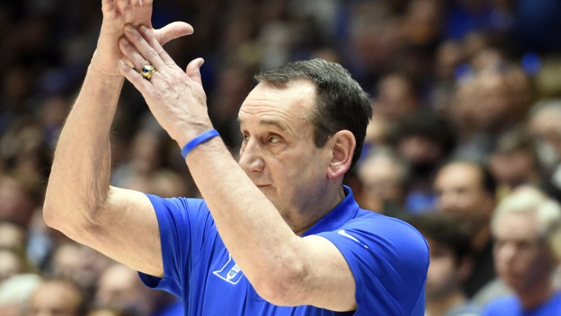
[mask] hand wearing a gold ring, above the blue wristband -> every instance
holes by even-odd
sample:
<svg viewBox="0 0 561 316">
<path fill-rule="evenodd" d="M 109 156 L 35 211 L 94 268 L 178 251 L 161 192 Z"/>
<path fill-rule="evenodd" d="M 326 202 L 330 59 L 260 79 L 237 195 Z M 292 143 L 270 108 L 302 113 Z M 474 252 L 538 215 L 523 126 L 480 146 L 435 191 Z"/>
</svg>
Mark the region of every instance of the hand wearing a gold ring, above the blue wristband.
<svg viewBox="0 0 561 316">
<path fill-rule="evenodd" d="M 133 68 L 122 60 L 120 70 L 142 93 L 169 136 L 182 147 L 192 137 L 209 130 L 212 125 L 199 72 L 203 60 L 192 60 L 183 71 L 164 51 L 152 29 L 127 25 L 125 30 L 121 50 Z M 139 73 L 148 64 L 156 69 L 150 80 Z"/>
</svg>

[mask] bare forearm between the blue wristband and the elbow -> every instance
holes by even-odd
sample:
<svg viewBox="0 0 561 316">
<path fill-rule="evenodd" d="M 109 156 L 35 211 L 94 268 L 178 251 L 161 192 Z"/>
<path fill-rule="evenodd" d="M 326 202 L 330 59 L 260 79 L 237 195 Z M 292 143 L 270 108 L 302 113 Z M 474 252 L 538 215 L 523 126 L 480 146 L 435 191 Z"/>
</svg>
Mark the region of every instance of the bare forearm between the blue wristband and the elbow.
<svg viewBox="0 0 561 316">
<path fill-rule="evenodd" d="M 187 164 L 226 248 L 259 294 L 265 297 L 274 288 L 294 284 L 303 268 L 297 259 L 303 258 L 298 254 L 300 238 L 221 139 L 196 147 L 187 156 Z"/>
</svg>

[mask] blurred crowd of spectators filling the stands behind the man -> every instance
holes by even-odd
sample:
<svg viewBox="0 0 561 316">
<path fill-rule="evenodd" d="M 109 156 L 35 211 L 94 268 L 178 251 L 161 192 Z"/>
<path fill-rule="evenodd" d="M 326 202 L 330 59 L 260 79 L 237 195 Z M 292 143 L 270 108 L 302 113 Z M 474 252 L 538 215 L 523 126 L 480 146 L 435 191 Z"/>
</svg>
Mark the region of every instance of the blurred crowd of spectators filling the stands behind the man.
<svg viewBox="0 0 561 316">
<path fill-rule="evenodd" d="M 194 27 L 164 48 L 181 67 L 205 59 L 209 113 L 234 155 L 256 71 L 308 58 L 350 70 L 374 116 L 345 182 L 363 208 L 425 235 L 435 316 L 479 315 L 501 295 L 527 309 L 535 293 L 557 291 L 561 247 L 549 237 L 561 223 L 559 16 L 558 0 L 154 0 L 152 23 Z M 43 222 L 53 150 L 101 17 L 99 0 L 0 1 L 0 316 L 180 315 L 174 297 Z M 115 186 L 199 196 L 177 144 L 129 84 L 112 144 Z M 554 211 L 545 223 L 517 211 L 497 217 L 516 209 L 511 199 Z M 513 216 L 530 217 L 505 228 Z M 501 248 L 513 241 L 516 256 Z M 537 258 L 549 253 L 543 265 Z M 457 307 L 472 314 L 451 314 Z"/>
</svg>

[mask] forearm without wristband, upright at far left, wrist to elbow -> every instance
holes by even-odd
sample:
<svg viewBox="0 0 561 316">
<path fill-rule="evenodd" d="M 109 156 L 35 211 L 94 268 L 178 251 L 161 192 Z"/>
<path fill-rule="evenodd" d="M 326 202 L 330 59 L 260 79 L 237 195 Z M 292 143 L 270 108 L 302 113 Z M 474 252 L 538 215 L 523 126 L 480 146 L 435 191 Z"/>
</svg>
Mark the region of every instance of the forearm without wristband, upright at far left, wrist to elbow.
<svg viewBox="0 0 561 316">
<path fill-rule="evenodd" d="M 105 201 L 110 181 L 110 127 L 123 78 L 88 68 L 58 140 L 44 216 L 50 225 L 80 223 Z M 68 227 L 65 227 L 68 229 Z"/>
</svg>

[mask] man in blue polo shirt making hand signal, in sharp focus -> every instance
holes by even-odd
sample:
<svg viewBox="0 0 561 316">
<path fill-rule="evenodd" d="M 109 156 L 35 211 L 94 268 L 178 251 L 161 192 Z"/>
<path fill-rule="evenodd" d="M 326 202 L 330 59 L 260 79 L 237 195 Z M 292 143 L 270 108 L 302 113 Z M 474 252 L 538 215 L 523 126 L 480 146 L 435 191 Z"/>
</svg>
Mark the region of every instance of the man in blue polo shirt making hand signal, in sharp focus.
<svg viewBox="0 0 561 316">
<path fill-rule="evenodd" d="M 423 313 L 426 242 L 342 186 L 371 114 L 345 70 L 313 60 L 259 75 L 239 111 L 236 162 L 212 130 L 202 60 L 184 72 L 160 45 L 192 28 L 152 30 L 152 1 L 102 3 L 98 49 L 53 160 L 50 226 L 182 297 L 185 315 Z M 204 200 L 109 185 L 122 75 L 183 148 Z"/>
</svg>

